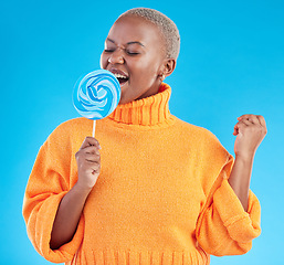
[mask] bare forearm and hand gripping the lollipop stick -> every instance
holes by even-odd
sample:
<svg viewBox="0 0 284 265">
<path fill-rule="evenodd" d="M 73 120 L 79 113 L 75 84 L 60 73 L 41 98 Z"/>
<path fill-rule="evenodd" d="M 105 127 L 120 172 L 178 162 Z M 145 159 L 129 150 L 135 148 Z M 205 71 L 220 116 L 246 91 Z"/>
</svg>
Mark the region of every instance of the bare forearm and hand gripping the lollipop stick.
<svg viewBox="0 0 284 265">
<path fill-rule="evenodd" d="M 70 242 L 76 232 L 86 199 L 99 176 L 99 149 L 101 146 L 94 137 L 86 137 L 75 155 L 78 180 L 59 205 L 51 233 L 52 250 Z"/>
</svg>

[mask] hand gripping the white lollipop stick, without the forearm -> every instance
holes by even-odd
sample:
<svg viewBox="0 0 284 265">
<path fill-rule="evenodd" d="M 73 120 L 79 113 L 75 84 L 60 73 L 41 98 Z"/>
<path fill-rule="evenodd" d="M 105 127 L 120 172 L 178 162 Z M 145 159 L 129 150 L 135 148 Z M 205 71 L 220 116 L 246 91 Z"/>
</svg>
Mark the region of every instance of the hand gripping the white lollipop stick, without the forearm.
<svg viewBox="0 0 284 265">
<path fill-rule="evenodd" d="M 101 172 L 101 146 L 94 137 L 86 137 L 75 153 L 77 162 L 77 186 L 82 189 L 92 189 Z"/>
</svg>

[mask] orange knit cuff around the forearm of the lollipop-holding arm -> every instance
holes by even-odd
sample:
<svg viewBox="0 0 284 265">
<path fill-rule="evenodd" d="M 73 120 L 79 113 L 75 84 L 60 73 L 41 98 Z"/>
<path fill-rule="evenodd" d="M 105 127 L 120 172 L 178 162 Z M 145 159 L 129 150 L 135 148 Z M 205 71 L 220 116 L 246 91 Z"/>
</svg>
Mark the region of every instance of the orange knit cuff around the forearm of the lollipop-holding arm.
<svg viewBox="0 0 284 265">
<path fill-rule="evenodd" d="M 51 250 L 50 240 L 53 223 L 62 198 L 66 192 L 51 195 L 40 205 L 34 223 L 29 225 L 29 236 L 34 236 L 34 246 L 38 252 L 48 261 L 53 263 L 63 263 L 71 261 L 77 252 L 84 234 L 84 220 L 81 216 L 77 230 L 71 242 L 62 245 L 59 250 Z M 35 210 L 35 209 L 34 209 Z M 32 239 L 31 239 L 32 240 Z"/>
</svg>

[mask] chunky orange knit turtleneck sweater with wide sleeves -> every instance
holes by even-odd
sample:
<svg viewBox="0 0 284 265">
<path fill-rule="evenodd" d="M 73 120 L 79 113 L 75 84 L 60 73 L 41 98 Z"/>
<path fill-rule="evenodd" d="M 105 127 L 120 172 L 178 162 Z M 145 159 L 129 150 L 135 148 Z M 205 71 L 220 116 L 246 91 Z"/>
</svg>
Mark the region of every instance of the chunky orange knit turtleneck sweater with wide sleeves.
<svg viewBox="0 0 284 265">
<path fill-rule="evenodd" d="M 249 210 L 228 183 L 233 158 L 207 129 L 172 116 L 170 87 L 119 105 L 96 125 L 102 171 L 73 240 L 50 248 L 61 199 L 75 184 L 75 152 L 92 120 L 60 125 L 41 147 L 23 216 L 36 251 L 66 264 L 209 264 L 209 254 L 243 254 L 260 234 L 260 204 Z"/>
</svg>

